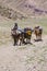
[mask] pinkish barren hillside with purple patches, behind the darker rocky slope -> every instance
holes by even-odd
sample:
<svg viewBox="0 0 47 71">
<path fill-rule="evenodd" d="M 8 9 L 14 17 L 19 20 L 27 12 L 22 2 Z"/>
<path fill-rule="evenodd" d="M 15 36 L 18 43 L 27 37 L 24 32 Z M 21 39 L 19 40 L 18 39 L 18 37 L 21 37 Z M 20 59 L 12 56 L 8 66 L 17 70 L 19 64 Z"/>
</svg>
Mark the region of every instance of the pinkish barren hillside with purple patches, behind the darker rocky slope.
<svg viewBox="0 0 47 71">
<path fill-rule="evenodd" d="M 47 14 L 47 0 L 0 0 L 0 4 L 25 15 Z"/>
</svg>

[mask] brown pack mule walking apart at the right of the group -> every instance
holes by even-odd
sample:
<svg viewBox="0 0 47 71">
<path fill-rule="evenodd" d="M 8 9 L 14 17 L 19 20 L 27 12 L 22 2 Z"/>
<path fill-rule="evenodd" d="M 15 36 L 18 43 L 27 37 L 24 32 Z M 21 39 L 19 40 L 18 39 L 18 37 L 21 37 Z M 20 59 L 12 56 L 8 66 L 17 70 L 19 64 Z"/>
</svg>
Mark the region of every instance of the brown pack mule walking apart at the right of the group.
<svg viewBox="0 0 47 71">
<path fill-rule="evenodd" d="M 36 26 L 34 28 L 34 34 L 36 36 L 35 42 L 42 42 L 42 34 L 43 34 L 43 28 L 40 28 L 39 26 Z"/>
</svg>

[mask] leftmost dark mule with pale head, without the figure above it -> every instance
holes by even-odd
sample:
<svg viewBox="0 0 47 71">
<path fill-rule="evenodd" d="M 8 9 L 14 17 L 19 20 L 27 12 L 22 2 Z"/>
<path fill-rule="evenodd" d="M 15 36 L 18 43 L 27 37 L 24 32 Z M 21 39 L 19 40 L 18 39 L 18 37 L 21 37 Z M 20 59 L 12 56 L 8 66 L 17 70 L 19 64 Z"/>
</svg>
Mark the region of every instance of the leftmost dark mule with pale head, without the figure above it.
<svg viewBox="0 0 47 71">
<path fill-rule="evenodd" d="M 14 46 L 15 45 L 22 45 L 23 44 L 23 37 L 24 37 L 24 35 L 23 35 L 23 33 L 22 32 L 17 32 L 17 29 L 16 31 L 12 31 L 12 37 L 13 37 L 13 40 L 14 40 Z"/>
</svg>

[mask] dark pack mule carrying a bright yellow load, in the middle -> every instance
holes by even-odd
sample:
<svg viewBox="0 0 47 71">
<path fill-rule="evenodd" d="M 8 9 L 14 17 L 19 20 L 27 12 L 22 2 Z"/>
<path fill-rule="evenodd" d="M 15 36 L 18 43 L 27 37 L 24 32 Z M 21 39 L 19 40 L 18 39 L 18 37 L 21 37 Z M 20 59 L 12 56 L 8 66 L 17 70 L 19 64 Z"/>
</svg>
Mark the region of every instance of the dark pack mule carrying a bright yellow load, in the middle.
<svg viewBox="0 0 47 71">
<path fill-rule="evenodd" d="M 24 28 L 24 44 L 31 44 L 31 37 L 32 37 L 33 29 L 30 27 Z"/>
</svg>

